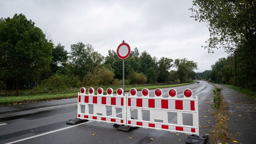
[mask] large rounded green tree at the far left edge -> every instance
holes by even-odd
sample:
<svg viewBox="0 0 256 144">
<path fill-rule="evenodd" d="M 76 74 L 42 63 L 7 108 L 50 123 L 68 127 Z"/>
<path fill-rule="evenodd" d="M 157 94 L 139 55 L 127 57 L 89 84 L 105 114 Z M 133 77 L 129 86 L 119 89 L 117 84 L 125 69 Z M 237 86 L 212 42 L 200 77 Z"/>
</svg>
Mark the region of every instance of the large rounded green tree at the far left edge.
<svg viewBox="0 0 256 144">
<path fill-rule="evenodd" d="M 45 39 L 42 30 L 23 14 L 0 20 L 0 66 L 4 69 L 9 88 L 15 83 L 35 83 L 41 73 L 49 70 L 53 43 Z M 33 82 L 34 81 L 34 82 Z"/>
</svg>

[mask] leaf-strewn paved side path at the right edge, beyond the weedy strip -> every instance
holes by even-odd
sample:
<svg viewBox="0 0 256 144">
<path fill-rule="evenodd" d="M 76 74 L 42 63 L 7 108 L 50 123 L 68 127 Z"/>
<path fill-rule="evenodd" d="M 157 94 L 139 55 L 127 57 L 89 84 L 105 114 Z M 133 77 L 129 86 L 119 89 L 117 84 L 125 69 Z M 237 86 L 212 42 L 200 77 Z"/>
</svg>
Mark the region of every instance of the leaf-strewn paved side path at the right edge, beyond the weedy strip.
<svg viewBox="0 0 256 144">
<path fill-rule="evenodd" d="M 215 84 L 227 103 L 228 132 L 232 136 L 229 144 L 255 144 L 256 139 L 256 101 L 240 92 Z"/>
</svg>

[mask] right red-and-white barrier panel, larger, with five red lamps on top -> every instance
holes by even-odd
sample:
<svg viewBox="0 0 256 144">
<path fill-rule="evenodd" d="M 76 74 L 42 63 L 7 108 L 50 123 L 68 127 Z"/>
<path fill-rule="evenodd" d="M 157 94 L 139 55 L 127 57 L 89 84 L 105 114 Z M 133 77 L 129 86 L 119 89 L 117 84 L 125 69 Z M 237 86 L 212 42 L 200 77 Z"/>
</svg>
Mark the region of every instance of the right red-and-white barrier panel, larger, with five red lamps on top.
<svg viewBox="0 0 256 144">
<path fill-rule="evenodd" d="M 127 98 L 127 125 L 199 135 L 198 97 L 193 99 L 190 89 L 185 89 L 183 93 L 184 98 L 177 98 L 177 91 L 170 89 L 168 98 L 163 98 L 162 90 L 155 89 L 154 97 L 149 97 L 149 90 L 144 88 L 141 91 L 142 97 L 138 97 L 137 90 L 132 88 Z M 131 119 L 134 110 L 137 112 L 137 119 Z M 148 114 L 150 120 L 144 120 L 143 117 Z M 177 117 L 177 121 L 171 121 L 171 115 Z M 184 115 L 193 117 L 190 125 L 183 123 Z"/>
</svg>

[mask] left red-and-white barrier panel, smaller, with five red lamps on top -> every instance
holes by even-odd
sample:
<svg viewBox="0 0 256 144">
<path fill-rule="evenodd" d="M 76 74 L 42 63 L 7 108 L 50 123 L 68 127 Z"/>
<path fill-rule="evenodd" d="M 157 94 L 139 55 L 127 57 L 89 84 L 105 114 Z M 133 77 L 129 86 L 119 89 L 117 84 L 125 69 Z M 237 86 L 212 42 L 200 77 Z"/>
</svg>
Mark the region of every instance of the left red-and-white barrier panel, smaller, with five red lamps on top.
<svg viewBox="0 0 256 144">
<path fill-rule="evenodd" d="M 78 92 L 78 119 L 126 125 L 126 99 L 122 88 L 117 89 L 116 96 L 112 88 L 107 89 L 107 95 L 103 95 L 103 88 L 97 89 L 97 95 L 94 95 L 94 88 L 89 88 L 88 94 L 85 92 L 85 88 L 80 88 Z M 92 112 L 89 111 L 90 106 L 93 106 Z M 107 116 L 108 109 L 112 111 L 110 116 Z M 122 109 L 122 118 L 117 117 L 117 109 Z"/>
</svg>

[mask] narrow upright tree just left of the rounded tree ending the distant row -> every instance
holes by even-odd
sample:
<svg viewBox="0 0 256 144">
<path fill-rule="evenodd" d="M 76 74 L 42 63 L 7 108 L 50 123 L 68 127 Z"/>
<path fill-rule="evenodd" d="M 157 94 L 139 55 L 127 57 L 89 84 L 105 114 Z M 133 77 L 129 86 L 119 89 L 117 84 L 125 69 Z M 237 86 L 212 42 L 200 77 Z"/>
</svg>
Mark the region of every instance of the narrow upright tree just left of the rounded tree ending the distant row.
<svg viewBox="0 0 256 144">
<path fill-rule="evenodd" d="M 172 67 L 173 60 L 167 57 L 161 57 L 157 62 L 157 81 L 160 83 L 165 83 L 169 81 L 170 68 Z"/>
</svg>

